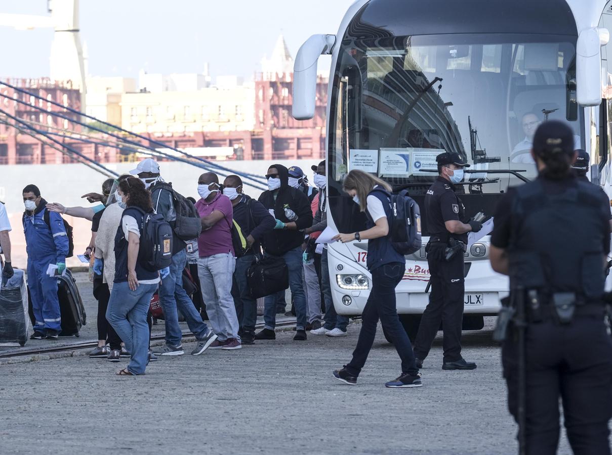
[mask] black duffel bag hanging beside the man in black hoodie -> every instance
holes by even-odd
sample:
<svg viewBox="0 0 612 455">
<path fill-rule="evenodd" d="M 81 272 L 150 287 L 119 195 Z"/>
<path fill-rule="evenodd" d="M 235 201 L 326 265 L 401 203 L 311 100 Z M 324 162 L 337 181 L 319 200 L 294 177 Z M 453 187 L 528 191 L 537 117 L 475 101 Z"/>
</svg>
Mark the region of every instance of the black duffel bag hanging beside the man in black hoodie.
<svg viewBox="0 0 612 455">
<path fill-rule="evenodd" d="M 282 257 L 256 258 L 247 270 L 247 283 L 251 297 L 259 298 L 289 287 L 289 268 Z"/>
</svg>

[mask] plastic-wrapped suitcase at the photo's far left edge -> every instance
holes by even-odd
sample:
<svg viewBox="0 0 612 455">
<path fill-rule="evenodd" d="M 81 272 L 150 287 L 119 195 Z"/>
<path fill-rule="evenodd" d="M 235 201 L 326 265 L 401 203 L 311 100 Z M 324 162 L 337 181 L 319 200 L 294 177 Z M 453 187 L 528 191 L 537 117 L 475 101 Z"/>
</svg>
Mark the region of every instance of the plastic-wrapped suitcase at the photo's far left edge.
<svg viewBox="0 0 612 455">
<path fill-rule="evenodd" d="M 15 273 L 0 289 L 0 341 L 26 344 L 32 331 L 28 316 L 28 289 L 23 270 Z"/>
</svg>

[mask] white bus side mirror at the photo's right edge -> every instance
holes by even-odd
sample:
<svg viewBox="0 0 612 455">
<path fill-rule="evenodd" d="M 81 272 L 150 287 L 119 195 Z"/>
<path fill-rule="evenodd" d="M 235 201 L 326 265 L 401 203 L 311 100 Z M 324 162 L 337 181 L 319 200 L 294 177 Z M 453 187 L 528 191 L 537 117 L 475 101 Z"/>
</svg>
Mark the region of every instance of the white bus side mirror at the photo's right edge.
<svg viewBox="0 0 612 455">
<path fill-rule="evenodd" d="M 602 46 L 610 40 L 605 28 L 584 29 L 576 45 L 577 98 L 581 106 L 599 106 L 602 103 Z M 607 72 L 606 72 L 607 73 Z"/>
</svg>

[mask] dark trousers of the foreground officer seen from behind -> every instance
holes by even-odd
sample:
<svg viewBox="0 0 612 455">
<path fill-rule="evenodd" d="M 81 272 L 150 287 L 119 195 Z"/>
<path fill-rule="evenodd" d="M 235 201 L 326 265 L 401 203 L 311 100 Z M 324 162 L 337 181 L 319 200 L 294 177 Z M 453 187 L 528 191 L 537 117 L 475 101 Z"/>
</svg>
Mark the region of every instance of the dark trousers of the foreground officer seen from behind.
<svg viewBox="0 0 612 455">
<path fill-rule="evenodd" d="M 559 442 L 559 398 L 567 438 L 575 454 L 610 454 L 612 418 L 612 339 L 603 317 L 553 320 L 526 330 L 527 453 L 555 454 Z M 502 345 L 508 407 L 517 418 L 517 345 L 514 331 Z"/>
</svg>

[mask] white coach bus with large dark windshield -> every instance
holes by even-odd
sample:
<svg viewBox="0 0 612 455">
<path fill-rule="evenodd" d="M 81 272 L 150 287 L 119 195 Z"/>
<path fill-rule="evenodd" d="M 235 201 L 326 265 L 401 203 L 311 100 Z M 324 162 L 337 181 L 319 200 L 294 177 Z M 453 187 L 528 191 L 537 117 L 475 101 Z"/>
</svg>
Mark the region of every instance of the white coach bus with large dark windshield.
<svg viewBox="0 0 612 455">
<path fill-rule="evenodd" d="M 591 156 L 590 179 L 612 193 L 610 27 L 612 1 L 605 0 L 356 1 L 337 35 L 313 35 L 302 45 L 294 68 L 293 116 L 309 119 L 318 57 L 332 56 L 329 226 L 364 229 L 364 216 L 341 191 L 351 169 L 409 188 L 423 211 L 443 151 L 471 163 L 460 190 L 466 215 L 492 215 L 509 185 L 535 177 L 529 149 L 545 119 L 572 126 L 575 147 Z M 464 329 L 482 328 L 483 316 L 497 314 L 507 294 L 507 279 L 489 265 L 489 239 L 473 239 L 465 254 Z M 370 294 L 367 242 L 331 243 L 328 251 L 335 309 L 358 315 Z M 397 287 L 411 338 L 428 302 L 428 279 L 423 247 L 406 257 Z"/>
</svg>

